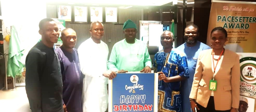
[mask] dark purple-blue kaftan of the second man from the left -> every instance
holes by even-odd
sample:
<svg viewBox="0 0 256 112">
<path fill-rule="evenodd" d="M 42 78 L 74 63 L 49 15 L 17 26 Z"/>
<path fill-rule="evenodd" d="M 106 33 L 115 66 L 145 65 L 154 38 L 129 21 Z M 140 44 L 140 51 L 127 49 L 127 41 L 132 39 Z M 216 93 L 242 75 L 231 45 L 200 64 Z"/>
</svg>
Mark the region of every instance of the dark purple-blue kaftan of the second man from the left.
<svg viewBox="0 0 256 112">
<path fill-rule="evenodd" d="M 83 75 L 80 71 L 80 63 L 77 49 L 72 49 L 72 53 L 59 47 L 55 49 L 58 54 L 62 82 L 63 82 L 63 102 L 68 112 L 82 112 L 82 90 Z"/>
</svg>

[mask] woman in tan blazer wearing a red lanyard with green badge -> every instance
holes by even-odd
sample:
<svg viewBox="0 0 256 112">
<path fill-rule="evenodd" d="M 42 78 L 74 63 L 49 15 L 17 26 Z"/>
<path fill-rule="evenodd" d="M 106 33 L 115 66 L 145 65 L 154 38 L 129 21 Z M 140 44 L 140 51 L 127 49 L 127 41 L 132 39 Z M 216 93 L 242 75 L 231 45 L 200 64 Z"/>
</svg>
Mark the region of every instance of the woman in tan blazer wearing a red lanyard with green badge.
<svg viewBox="0 0 256 112">
<path fill-rule="evenodd" d="M 190 104 L 195 112 L 237 112 L 239 106 L 240 63 L 238 54 L 224 49 L 227 31 L 211 31 L 212 49 L 199 53 Z"/>
</svg>

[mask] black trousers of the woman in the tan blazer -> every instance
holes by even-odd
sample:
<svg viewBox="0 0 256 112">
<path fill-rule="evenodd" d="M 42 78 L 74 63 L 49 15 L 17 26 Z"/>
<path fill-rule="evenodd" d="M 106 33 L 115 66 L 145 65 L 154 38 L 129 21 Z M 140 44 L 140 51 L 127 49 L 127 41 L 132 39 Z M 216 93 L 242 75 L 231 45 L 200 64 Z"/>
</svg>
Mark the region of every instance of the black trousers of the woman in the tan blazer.
<svg viewBox="0 0 256 112">
<path fill-rule="evenodd" d="M 213 96 L 210 96 L 210 99 L 206 108 L 199 105 L 198 103 L 196 104 L 197 104 L 197 107 L 200 109 L 200 110 L 197 109 L 197 112 L 230 112 L 230 110 L 215 110 Z"/>
</svg>

